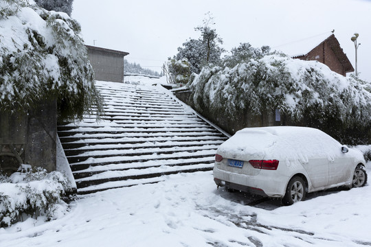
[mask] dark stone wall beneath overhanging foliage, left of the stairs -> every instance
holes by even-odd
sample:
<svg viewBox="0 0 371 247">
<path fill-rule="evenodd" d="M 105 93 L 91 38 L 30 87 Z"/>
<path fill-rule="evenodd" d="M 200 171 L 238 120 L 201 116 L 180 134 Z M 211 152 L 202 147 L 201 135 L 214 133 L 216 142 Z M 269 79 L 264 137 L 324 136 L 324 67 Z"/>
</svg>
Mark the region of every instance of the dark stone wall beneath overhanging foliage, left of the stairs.
<svg viewBox="0 0 371 247">
<path fill-rule="evenodd" d="M 27 113 L 0 113 L 0 169 L 7 174 L 19 165 L 56 170 L 56 100 L 41 102 Z"/>
</svg>

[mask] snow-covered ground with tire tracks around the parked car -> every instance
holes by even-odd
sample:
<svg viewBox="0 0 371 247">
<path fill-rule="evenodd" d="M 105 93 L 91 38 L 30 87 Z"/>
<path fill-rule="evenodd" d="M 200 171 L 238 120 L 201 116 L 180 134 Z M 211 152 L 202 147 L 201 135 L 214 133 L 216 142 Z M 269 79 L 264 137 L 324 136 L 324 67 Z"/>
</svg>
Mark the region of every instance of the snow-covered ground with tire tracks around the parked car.
<svg viewBox="0 0 371 247">
<path fill-rule="evenodd" d="M 52 222 L 1 228 L 0 246 L 370 246 L 370 195 L 366 186 L 280 207 L 216 190 L 212 172 L 177 174 L 84 196 Z"/>
</svg>

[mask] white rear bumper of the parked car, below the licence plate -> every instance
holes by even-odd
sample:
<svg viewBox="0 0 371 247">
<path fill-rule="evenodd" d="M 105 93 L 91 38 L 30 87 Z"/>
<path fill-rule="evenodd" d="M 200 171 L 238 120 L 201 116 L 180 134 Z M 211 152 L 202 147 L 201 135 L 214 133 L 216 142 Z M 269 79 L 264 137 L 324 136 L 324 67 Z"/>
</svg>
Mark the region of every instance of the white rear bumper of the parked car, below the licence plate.
<svg viewBox="0 0 371 247">
<path fill-rule="evenodd" d="M 257 176 L 247 176 L 244 174 L 234 174 L 214 167 L 214 181 L 218 186 L 225 186 L 248 193 L 271 198 L 282 198 L 286 191 L 289 178 L 282 176 L 271 176 L 272 172 L 262 170 Z M 267 179 L 269 178 L 269 179 Z"/>
</svg>

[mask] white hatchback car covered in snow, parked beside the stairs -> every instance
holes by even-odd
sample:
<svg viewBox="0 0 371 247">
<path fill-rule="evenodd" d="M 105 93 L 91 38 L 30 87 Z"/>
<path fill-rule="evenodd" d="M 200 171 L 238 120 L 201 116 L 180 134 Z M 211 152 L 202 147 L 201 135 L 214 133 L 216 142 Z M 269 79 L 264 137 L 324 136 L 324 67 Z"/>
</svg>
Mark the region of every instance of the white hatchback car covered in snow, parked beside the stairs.
<svg viewBox="0 0 371 247">
<path fill-rule="evenodd" d="M 228 190 L 281 198 L 290 205 L 306 193 L 333 187 L 362 187 L 366 161 L 315 128 L 245 128 L 217 150 L 214 181 Z"/>
</svg>

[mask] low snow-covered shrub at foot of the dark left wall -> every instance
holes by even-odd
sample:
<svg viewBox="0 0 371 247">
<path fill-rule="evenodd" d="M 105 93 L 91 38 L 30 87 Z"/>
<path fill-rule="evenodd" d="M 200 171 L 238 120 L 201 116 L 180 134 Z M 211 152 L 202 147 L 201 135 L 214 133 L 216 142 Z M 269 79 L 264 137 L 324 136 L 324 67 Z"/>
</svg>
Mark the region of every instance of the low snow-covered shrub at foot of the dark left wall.
<svg viewBox="0 0 371 247">
<path fill-rule="evenodd" d="M 67 182 L 60 172 L 47 173 L 40 167 L 22 169 L 10 177 L 0 174 L 0 227 L 23 220 L 23 216 L 52 220 L 66 208 L 61 197 L 71 190 Z"/>
</svg>

